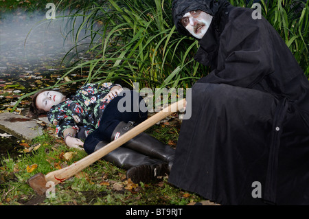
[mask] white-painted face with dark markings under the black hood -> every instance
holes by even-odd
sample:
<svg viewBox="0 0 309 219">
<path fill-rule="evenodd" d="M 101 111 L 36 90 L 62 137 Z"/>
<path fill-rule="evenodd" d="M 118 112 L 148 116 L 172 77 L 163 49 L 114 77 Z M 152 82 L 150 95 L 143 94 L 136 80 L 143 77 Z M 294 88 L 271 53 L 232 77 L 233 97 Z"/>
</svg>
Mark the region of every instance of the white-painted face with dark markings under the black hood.
<svg viewBox="0 0 309 219">
<path fill-rule="evenodd" d="M 185 13 L 181 19 L 182 25 L 192 36 L 201 39 L 206 34 L 211 23 L 212 16 L 202 10 Z"/>
</svg>

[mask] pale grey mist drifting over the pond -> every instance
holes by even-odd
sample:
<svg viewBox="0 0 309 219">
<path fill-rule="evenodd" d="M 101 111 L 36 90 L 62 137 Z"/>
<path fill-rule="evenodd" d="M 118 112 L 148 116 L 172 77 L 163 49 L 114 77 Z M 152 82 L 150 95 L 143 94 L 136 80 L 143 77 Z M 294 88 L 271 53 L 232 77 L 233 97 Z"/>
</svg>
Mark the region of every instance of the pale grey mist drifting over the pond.
<svg viewBox="0 0 309 219">
<path fill-rule="evenodd" d="M 16 75 L 16 67 L 21 71 L 22 66 L 23 70 L 29 72 L 30 68 L 40 65 L 51 69 L 60 65 L 61 59 L 76 45 L 71 29 L 75 25 L 73 32 L 76 34 L 82 18 L 72 21 L 57 16 L 61 14 L 56 14 L 56 19 L 50 20 L 46 19 L 46 12 L 29 14 L 14 11 L 1 14 L 0 77 Z M 89 48 L 90 38 L 82 40 L 88 34 L 84 30 L 80 32 L 77 42 L 79 58 Z M 76 55 L 75 49 L 71 51 L 71 55 Z"/>
</svg>

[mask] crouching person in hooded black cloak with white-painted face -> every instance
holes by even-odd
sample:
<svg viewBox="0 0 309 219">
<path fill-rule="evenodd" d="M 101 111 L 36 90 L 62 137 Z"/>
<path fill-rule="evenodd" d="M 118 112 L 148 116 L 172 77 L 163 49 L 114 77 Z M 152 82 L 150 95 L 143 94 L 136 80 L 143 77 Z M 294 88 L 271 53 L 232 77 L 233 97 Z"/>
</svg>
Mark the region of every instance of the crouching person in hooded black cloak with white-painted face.
<svg viewBox="0 0 309 219">
<path fill-rule="evenodd" d="M 309 82 L 266 19 L 225 0 L 174 0 L 211 67 L 192 86 L 169 182 L 221 205 L 309 204 Z"/>
</svg>

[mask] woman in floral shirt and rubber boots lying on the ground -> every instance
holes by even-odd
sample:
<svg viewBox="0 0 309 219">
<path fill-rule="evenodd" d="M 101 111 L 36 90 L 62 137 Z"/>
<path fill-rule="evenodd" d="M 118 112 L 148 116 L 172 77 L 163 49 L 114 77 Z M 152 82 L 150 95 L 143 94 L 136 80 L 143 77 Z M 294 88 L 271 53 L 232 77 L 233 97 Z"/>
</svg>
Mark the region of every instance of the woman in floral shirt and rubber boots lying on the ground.
<svg viewBox="0 0 309 219">
<path fill-rule="evenodd" d="M 121 107 L 127 110 L 119 111 Z M 47 113 L 67 146 L 91 154 L 147 119 L 145 109 L 138 93 L 119 84 L 86 84 L 71 97 L 53 90 L 38 91 L 32 97 L 28 116 Z M 103 159 L 125 168 L 127 178 L 134 183 L 147 183 L 170 172 L 174 149 L 142 132 Z"/>
</svg>

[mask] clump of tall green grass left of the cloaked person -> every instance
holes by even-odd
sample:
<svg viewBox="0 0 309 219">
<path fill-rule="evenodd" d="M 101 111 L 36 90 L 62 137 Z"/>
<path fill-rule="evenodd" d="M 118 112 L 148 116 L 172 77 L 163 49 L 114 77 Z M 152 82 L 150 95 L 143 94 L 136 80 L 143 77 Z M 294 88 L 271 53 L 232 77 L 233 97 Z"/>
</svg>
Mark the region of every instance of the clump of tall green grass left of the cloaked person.
<svg viewBox="0 0 309 219">
<path fill-rule="evenodd" d="M 87 15 L 76 14 L 84 16 L 84 27 L 91 29 L 98 23 L 102 27 L 93 32 L 100 36 L 100 43 L 89 49 L 95 58 L 80 62 L 71 71 L 87 68 L 88 81 L 120 79 L 151 89 L 191 87 L 207 74 L 207 68 L 193 60 L 198 43 L 175 30 L 171 1 L 108 0 L 108 4 L 95 4 Z"/>
</svg>

